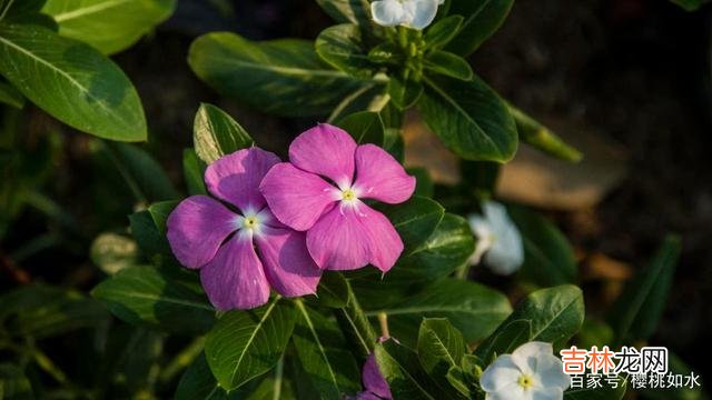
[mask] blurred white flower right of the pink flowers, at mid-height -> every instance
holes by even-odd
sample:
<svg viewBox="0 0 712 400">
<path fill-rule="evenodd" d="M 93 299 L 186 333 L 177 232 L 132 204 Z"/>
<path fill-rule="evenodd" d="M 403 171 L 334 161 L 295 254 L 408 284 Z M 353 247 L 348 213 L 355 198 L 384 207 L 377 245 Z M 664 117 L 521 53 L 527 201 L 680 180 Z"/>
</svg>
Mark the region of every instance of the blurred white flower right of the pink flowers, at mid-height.
<svg viewBox="0 0 712 400">
<path fill-rule="evenodd" d="M 482 208 L 484 216 L 469 216 L 469 227 L 477 237 L 469 262 L 477 264 L 482 259 L 493 272 L 510 274 L 524 262 L 522 236 L 504 206 L 485 201 Z"/>
</svg>

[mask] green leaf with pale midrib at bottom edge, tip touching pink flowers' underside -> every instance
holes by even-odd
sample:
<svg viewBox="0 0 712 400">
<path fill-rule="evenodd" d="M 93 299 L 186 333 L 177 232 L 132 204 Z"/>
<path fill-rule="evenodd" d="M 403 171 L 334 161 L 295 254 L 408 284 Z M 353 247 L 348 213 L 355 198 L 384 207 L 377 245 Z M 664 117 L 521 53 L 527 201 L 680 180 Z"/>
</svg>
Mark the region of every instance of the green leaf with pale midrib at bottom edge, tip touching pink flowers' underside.
<svg viewBox="0 0 712 400">
<path fill-rule="evenodd" d="M 305 376 L 322 399 L 360 390 L 360 371 L 338 324 L 296 301 L 299 317 L 291 340 Z"/>
</svg>

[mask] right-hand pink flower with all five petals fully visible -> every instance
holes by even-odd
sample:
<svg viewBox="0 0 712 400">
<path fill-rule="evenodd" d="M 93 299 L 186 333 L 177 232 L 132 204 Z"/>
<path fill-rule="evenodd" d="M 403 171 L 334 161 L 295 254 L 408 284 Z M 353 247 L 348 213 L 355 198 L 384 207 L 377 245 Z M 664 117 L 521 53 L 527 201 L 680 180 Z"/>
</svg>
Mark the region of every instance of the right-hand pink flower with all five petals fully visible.
<svg viewBox="0 0 712 400">
<path fill-rule="evenodd" d="M 404 202 L 415 190 L 415 178 L 382 148 L 357 146 L 329 124 L 297 137 L 289 161 L 273 167 L 259 189 L 279 221 L 307 232 L 316 264 L 353 270 L 370 263 L 388 271 L 403 241 L 390 221 L 362 200 Z"/>
</svg>

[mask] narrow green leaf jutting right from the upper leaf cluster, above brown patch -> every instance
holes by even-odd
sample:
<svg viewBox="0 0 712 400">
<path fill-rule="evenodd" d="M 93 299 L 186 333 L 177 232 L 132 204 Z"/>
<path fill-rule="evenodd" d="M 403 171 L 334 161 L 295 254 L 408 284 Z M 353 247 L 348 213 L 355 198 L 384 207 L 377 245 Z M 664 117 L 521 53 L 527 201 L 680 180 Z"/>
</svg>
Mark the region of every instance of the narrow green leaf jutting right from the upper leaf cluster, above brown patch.
<svg viewBox="0 0 712 400">
<path fill-rule="evenodd" d="M 522 110 L 510 106 L 510 112 L 516 121 L 520 140 L 544 153 L 568 162 L 583 159 L 581 151 L 566 144 L 556 133 L 544 127 Z"/>
</svg>

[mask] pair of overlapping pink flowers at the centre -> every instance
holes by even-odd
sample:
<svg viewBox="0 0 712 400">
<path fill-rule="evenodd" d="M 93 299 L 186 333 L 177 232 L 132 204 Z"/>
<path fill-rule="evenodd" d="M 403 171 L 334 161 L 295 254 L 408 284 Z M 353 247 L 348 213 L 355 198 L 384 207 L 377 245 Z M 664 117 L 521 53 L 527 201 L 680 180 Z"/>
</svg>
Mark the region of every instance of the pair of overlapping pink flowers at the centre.
<svg viewBox="0 0 712 400">
<path fill-rule="evenodd" d="M 244 149 L 208 166 L 205 181 L 212 197 L 181 201 L 168 218 L 168 241 L 185 267 L 200 270 L 220 310 L 259 307 L 270 288 L 314 293 L 323 270 L 387 272 L 403 242 L 363 200 L 395 204 L 415 190 L 415 178 L 385 150 L 329 124 L 297 137 L 289 162 Z"/>
</svg>

